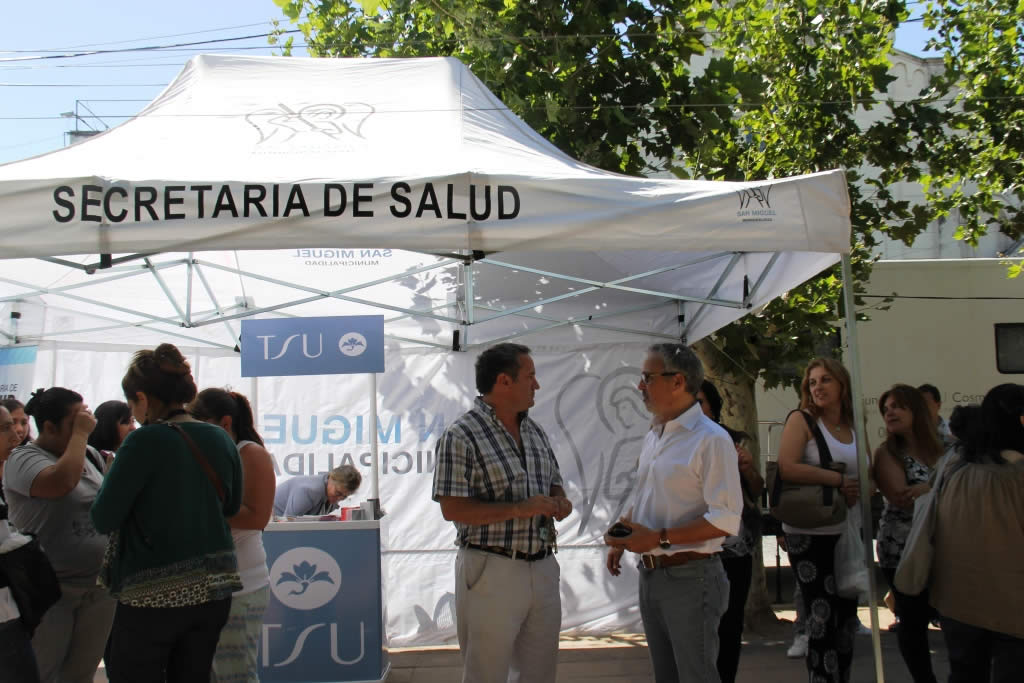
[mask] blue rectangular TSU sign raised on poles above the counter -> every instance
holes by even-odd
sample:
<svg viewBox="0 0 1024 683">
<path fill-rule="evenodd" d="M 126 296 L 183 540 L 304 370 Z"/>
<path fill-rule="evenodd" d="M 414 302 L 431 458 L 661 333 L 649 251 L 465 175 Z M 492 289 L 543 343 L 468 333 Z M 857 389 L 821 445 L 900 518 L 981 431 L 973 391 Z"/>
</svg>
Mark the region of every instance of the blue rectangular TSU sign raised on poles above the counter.
<svg viewBox="0 0 1024 683">
<path fill-rule="evenodd" d="M 384 316 L 242 321 L 242 376 L 384 372 Z"/>
</svg>

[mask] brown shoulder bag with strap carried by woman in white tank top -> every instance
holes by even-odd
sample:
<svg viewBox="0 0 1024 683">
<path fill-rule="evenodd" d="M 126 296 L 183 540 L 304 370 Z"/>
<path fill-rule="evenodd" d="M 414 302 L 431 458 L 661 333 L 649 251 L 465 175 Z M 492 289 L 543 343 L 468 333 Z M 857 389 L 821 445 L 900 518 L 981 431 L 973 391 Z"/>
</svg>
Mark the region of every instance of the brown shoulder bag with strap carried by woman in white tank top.
<svg viewBox="0 0 1024 683">
<path fill-rule="evenodd" d="M 845 472 L 846 465 L 833 460 L 824 434 L 821 433 L 817 423 L 803 411 L 794 413 L 800 413 L 807 421 L 807 426 L 818 445 L 820 467 L 834 472 Z M 816 483 L 785 481 L 778 473 L 778 463 L 768 463 L 768 465 L 766 468 L 768 503 L 773 517 L 801 528 L 817 528 L 846 521 L 846 499 L 838 489 Z M 774 467 L 771 467 L 772 465 Z"/>
</svg>

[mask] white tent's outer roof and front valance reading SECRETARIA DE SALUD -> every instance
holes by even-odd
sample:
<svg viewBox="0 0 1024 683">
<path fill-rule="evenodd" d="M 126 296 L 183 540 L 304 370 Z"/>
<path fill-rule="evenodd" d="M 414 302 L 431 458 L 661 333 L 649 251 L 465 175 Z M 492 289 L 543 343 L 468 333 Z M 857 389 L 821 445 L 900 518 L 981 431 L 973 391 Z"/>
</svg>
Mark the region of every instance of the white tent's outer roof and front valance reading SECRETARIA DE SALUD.
<svg viewBox="0 0 1024 683">
<path fill-rule="evenodd" d="M 325 193 L 327 213 L 338 212 L 342 189 L 326 185 L 344 188 L 338 216 L 325 215 Z M 471 191 L 485 218 L 471 216 Z M 197 56 L 136 118 L 0 166 L 0 207 L 6 258 L 577 251 L 583 241 L 609 250 L 850 248 L 840 171 L 752 183 L 601 171 L 556 150 L 453 57 Z"/>
</svg>

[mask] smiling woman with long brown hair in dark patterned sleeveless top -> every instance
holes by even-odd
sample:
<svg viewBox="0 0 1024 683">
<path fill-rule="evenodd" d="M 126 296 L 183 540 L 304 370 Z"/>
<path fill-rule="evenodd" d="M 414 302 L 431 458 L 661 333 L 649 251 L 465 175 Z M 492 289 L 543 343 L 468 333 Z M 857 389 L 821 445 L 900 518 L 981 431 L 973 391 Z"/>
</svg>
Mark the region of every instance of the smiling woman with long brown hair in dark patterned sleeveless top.
<svg viewBox="0 0 1024 683">
<path fill-rule="evenodd" d="M 934 610 L 928 604 L 928 592 L 901 593 L 893 585 L 893 578 L 910 533 L 913 502 L 930 490 L 928 481 L 942 458 L 942 443 L 924 396 L 912 386 L 896 384 L 883 393 L 879 412 L 887 432 L 872 458 L 874 480 L 886 499 L 879 523 L 879 566 L 892 587 L 903 661 L 914 683 L 935 683 L 928 647 L 928 624 Z"/>
</svg>

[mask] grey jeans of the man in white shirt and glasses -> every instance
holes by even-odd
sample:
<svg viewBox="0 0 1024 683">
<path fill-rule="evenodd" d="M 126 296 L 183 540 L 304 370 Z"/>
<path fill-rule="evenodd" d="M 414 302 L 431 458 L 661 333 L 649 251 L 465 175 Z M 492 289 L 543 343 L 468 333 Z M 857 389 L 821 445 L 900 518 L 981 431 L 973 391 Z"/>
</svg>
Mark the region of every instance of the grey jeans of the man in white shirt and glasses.
<svg viewBox="0 0 1024 683">
<path fill-rule="evenodd" d="M 718 556 L 640 568 L 640 616 L 655 683 L 718 683 L 718 623 L 729 580 Z"/>
</svg>

